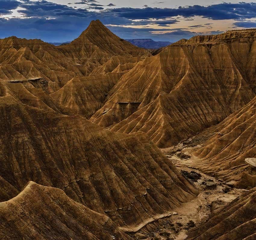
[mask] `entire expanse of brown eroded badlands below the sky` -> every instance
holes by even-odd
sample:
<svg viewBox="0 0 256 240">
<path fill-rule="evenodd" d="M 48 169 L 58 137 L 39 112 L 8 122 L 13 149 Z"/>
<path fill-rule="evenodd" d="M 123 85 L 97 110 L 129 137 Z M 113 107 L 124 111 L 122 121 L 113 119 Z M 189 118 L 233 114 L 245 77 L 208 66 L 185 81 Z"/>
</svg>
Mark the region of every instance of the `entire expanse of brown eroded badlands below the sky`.
<svg viewBox="0 0 256 240">
<path fill-rule="evenodd" d="M 256 239 L 255 39 L 0 40 L 0 238 Z"/>
</svg>

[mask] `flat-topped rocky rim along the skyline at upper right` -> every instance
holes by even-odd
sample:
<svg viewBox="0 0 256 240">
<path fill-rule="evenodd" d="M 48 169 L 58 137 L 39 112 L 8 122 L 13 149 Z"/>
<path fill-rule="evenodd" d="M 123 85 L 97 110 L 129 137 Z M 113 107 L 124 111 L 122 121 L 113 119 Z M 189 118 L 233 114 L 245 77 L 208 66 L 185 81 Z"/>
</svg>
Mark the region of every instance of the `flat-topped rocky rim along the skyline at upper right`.
<svg viewBox="0 0 256 240">
<path fill-rule="evenodd" d="M 234 39 L 251 39 L 256 37 L 256 29 L 233 30 L 218 35 L 197 35 L 188 41 L 180 43 L 182 45 L 214 43 L 218 41 L 230 41 Z M 248 40 L 249 41 L 249 40 Z"/>
</svg>

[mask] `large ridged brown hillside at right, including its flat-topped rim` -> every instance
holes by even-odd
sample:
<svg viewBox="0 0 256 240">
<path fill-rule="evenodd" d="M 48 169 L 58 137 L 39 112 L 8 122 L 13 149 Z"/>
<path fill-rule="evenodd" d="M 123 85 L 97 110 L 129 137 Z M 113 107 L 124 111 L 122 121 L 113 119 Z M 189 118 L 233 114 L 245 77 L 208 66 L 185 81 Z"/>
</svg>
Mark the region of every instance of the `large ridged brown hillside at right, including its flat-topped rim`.
<svg viewBox="0 0 256 240">
<path fill-rule="evenodd" d="M 237 32 L 182 40 L 139 62 L 91 120 L 113 131 L 144 131 L 160 147 L 222 121 L 255 96 L 256 31 Z"/>
</svg>

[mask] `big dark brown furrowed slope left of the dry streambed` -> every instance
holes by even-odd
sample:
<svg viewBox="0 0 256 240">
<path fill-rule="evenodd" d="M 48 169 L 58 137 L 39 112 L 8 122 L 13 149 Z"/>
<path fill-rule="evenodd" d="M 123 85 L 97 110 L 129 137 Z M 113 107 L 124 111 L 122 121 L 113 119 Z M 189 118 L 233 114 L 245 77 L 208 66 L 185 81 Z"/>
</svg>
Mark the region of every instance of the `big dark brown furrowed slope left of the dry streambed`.
<svg viewBox="0 0 256 240">
<path fill-rule="evenodd" d="M 196 190 L 142 133 L 119 134 L 81 116 L 65 116 L 0 98 L 1 195 L 30 180 L 63 189 L 120 226 L 166 214 Z"/>
</svg>

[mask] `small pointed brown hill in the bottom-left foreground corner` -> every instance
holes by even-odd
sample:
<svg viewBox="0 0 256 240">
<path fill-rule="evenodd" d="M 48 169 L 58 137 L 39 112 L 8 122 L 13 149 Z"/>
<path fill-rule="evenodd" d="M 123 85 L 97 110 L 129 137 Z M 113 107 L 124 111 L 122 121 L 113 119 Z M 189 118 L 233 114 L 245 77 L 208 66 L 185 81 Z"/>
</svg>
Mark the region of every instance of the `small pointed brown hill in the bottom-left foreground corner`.
<svg viewBox="0 0 256 240">
<path fill-rule="evenodd" d="M 0 202 L 0 238 L 9 240 L 128 240 L 104 214 L 71 200 L 63 190 L 29 182 Z"/>
</svg>

